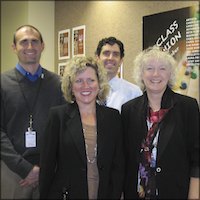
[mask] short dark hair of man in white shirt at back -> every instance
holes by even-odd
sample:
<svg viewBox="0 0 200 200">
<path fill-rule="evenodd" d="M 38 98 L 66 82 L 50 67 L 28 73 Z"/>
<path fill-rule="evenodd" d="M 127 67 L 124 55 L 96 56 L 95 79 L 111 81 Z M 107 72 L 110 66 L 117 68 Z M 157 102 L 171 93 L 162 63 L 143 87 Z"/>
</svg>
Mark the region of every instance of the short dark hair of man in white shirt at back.
<svg viewBox="0 0 200 200">
<path fill-rule="evenodd" d="M 117 44 L 120 49 L 120 57 L 121 58 L 124 57 L 124 45 L 120 40 L 116 39 L 115 37 L 108 37 L 108 38 L 103 38 L 102 40 L 100 40 L 97 46 L 97 49 L 95 51 L 95 55 L 100 56 L 102 47 L 106 44 L 109 44 L 109 45 Z"/>
</svg>

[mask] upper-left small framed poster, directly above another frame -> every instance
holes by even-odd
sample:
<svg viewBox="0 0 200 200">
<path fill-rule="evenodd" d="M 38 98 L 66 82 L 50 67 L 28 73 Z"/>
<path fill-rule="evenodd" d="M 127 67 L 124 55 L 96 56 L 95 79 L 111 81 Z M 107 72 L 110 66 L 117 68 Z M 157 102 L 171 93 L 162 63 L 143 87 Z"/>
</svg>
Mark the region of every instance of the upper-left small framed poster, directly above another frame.
<svg viewBox="0 0 200 200">
<path fill-rule="evenodd" d="M 58 32 L 58 58 L 70 58 L 70 29 Z"/>
</svg>

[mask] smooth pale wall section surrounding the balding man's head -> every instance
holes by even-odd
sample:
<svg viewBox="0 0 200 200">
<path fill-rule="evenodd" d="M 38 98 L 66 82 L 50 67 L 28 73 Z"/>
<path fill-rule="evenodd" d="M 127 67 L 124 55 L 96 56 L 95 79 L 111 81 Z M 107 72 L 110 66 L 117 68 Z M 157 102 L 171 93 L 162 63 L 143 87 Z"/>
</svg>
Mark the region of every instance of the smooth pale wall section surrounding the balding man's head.
<svg viewBox="0 0 200 200">
<path fill-rule="evenodd" d="M 41 64 L 54 71 L 54 5 L 54 1 L 1 1 L 1 72 L 17 63 L 11 45 L 13 33 L 23 24 L 41 31 L 46 46 Z"/>
</svg>

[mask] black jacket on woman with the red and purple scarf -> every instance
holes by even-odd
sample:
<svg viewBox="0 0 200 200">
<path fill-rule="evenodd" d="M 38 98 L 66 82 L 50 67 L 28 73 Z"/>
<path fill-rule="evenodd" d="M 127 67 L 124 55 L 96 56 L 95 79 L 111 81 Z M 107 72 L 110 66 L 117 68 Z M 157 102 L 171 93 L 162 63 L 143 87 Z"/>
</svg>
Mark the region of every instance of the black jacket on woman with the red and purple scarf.
<svg viewBox="0 0 200 200">
<path fill-rule="evenodd" d="M 137 199 L 137 173 L 142 140 L 147 134 L 147 94 L 122 106 L 125 134 L 125 199 Z M 159 199 L 187 199 L 189 179 L 199 177 L 199 107 L 191 97 L 166 89 L 161 108 L 170 108 L 157 147 Z"/>
</svg>

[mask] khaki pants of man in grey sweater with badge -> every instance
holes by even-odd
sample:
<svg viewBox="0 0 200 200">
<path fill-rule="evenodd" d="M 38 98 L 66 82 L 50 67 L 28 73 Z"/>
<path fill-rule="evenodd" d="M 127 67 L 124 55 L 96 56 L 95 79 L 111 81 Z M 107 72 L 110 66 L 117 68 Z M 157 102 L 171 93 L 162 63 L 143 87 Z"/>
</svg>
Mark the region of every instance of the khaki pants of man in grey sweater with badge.
<svg viewBox="0 0 200 200">
<path fill-rule="evenodd" d="M 1 161 L 1 199 L 39 199 L 38 187 L 21 187 L 21 177 Z"/>
</svg>

